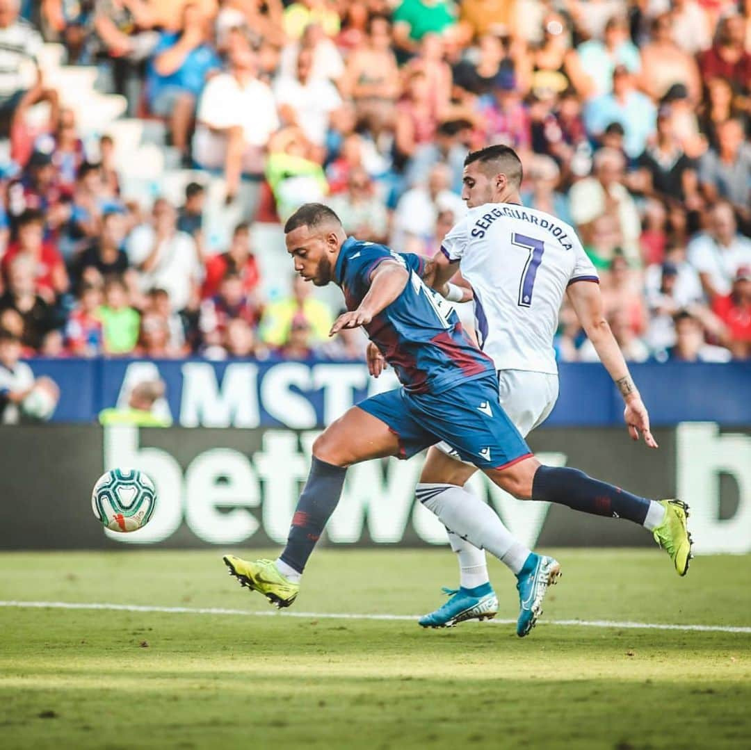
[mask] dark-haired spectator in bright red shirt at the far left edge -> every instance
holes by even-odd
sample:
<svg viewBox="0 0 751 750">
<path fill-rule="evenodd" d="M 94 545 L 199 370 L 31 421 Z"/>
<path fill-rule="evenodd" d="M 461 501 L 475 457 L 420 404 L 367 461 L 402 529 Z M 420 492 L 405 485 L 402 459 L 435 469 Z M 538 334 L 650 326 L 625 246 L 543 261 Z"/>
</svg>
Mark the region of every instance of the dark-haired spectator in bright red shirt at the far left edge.
<svg viewBox="0 0 751 750">
<path fill-rule="evenodd" d="M 2 259 L 2 270 L 8 279 L 14 258 L 26 255 L 35 271 L 36 292 L 52 305 L 59 294 L 68 291 L 68 273 L 59 250 L 53 242 L 44 240 L 44 215 L 35 209 L 26 209 L 17 222 L 17 239 L 8 245 Z"/>
</svg>

